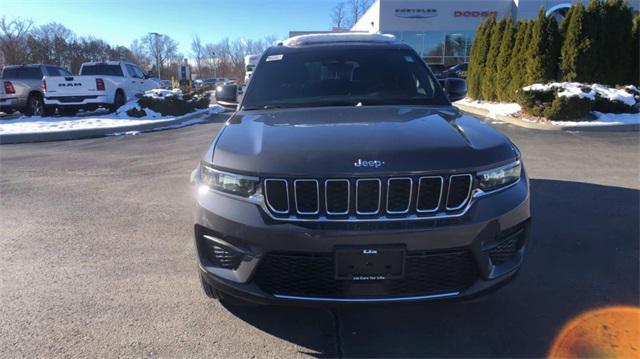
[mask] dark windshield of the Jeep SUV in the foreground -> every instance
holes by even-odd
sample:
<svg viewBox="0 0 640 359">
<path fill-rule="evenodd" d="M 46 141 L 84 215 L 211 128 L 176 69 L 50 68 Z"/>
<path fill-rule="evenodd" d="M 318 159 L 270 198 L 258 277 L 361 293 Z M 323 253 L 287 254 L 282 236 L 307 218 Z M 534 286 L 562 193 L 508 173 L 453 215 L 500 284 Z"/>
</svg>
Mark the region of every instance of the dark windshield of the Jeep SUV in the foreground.
<svg viewBox="0 0 640 359">
<path fill-rule="evenodd" d="M 447 104 L 438 86 L 409 49 L 315 47 L 263 57 L 243 108 Z"/>
</svg>

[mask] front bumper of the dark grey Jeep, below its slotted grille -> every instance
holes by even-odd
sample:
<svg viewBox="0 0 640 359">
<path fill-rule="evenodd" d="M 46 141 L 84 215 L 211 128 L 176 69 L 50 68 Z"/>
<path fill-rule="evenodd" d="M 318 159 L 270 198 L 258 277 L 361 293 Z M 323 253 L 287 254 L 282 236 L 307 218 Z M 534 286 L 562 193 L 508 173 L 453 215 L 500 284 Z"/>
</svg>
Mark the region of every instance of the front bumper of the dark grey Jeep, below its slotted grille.
<svg viewBox="0 0 640 359">
<path fill-rule="evenodd" d="M 195 239 L 203 279 L 222 292 L 265 304 L 399 302 L 476 296 L 514 277 L 523 261 L 530 230 L 529 182 L 524 171 L 515 185 L 477 199 L 464 216 L 452 219 L 287 222 L 271 218 L 259 205 L 219 192 L 197 191 L 196 198 Z M 468 273 L 453 276 L 451 281 L 458 283 L 457 286 L 436 281 L 441 284 L 440 287 L 430 287 L 422 292 L 394 292 L 390 289 L 394 285 L 387 285 L 394 279 L 358 283 L 360 288 L 376 288 L 373 291 L 375 294 L 367 294 L 365 290 L 365 294 L 361 294 L 362 291 L 348 291 L 360 294 L 336 295 L 322 293 L 325 287 L 317 286 L 332 285 L 327 273 L 322 279 L 313 276 L 323 270 L 333 271 L 330 266 L 336 247 L 388 245 L 403 246 L 408 256 L 415 256 L 411 258 L 421 263 L 416 268 L 434 269 L 433 266 L 428 267 L 433 261 L 440 261 L 443 266 L 451 261 L 462 264 L 470 261 L 473 268 L 464 264 Z M 215 257 L 214 251 L 218 251 L 219 257 Z M 453 253 L 459 256 L 451 257 Z M 272 271 L 268 275 L 278 275 L 267 265 L 278 256 L 284 256 L 288 261 L 276 265 L 280 273 L 287 268 L 294 272 L 313 268 L 313 272 L 300 274 L 309 275 L 308 280 L 296 278 L 299 283 L 306 283 L 303 286 L 306 285 L 305 288 L 313 294 L 300 294 L 300 287 L 289 292 L 278 291 L 277 285 L 274 287 L 268 284 L 269 280 L 263 280 L 265 276 L 260 271 L 267 268 Z M 296 263 L 291 258 L 300 258 L 305 262 Z M 308 258 L 323 259 L 310 262 Z M 435 267 L 435 270 L 438 268 Z M 447 270 L 457 271 L 456 268 Z M 426 275 L 420 278 L 427 278 L 428 281 L 429 273 L 420 275 Z M 464 284 L 460 284 L 462 282 Z"/>
</svg>

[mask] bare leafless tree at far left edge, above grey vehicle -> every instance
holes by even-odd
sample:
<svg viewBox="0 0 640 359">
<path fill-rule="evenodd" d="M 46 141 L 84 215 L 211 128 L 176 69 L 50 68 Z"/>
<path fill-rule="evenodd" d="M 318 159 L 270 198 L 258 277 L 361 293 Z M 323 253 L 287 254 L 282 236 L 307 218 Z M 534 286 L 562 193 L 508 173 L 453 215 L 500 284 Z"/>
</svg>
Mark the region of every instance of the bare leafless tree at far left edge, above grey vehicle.
<svg viewBox="0 0 640 359">
<path fill-rule="evenodd" d="M 33 22 L 20 18 L 0 18 L 0 52 L 6 64 L 20 64 L 27 60 L 27 37 Z"/>
</svg>

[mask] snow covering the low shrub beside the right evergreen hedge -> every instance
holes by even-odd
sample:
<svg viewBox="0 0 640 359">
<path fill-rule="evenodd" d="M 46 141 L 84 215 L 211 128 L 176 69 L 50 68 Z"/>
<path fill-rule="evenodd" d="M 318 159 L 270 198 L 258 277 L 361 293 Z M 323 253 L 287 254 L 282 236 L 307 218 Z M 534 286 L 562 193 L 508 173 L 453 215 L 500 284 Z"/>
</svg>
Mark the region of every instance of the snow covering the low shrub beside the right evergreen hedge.
<svg viewBox="0 0 640 359">
<path fill-rule="evenodd" d="M 548 84 L 533 84 L 522 88 L 524 91 L 558 91 L 559 97 L 580 97 L 595 101 L 596 95 L 610 101 L 622 102 L 627 106 L 634 106 L 636 99 L 634 95 L 626 89 L 616 89 L 600 84 L 585 85 L 579 82 L 552 82 Z M 635 90 L 635 86 L 628 86 L 627 89 Z"/>
</svg>

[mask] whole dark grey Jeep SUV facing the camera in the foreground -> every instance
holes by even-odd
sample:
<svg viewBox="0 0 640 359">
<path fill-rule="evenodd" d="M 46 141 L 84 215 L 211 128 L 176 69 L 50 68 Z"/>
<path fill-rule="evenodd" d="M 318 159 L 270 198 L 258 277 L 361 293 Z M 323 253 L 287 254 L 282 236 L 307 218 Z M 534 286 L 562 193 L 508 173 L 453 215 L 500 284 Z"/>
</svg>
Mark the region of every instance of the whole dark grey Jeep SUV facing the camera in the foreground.
<svg viewBox="0 0 640 359">
<path fill-rule="evenodd" d="M 513 278 L 530 219 L 520 152 L 451 105 L 451 81 L 386 35 L 266 50 L 192 173 L 205 293 L 399 302 Z"/>
</svg>

